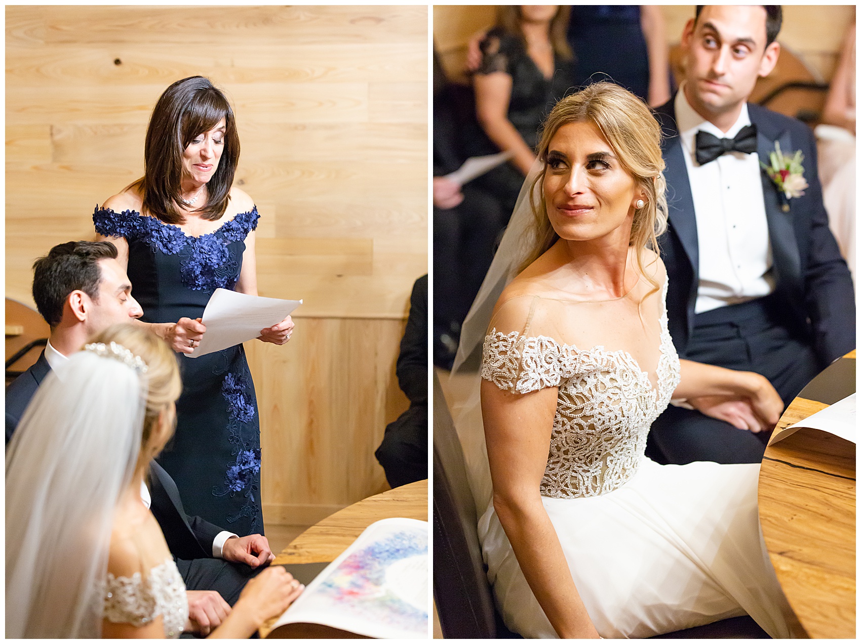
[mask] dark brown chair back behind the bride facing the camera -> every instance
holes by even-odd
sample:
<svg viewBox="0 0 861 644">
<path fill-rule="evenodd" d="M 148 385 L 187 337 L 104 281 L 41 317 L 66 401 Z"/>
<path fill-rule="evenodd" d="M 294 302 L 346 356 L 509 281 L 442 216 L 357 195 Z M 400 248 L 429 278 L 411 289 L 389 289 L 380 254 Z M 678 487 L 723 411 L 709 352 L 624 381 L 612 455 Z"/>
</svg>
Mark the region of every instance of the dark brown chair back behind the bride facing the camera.
<svg viewBox="0 0 861 644">
<path fill-rule="evenodd" d="M 443 637 L 517 637 L 493 607 L 461 441 L 436 373 L 433 404 L 433 594 Z"/>
</svg>

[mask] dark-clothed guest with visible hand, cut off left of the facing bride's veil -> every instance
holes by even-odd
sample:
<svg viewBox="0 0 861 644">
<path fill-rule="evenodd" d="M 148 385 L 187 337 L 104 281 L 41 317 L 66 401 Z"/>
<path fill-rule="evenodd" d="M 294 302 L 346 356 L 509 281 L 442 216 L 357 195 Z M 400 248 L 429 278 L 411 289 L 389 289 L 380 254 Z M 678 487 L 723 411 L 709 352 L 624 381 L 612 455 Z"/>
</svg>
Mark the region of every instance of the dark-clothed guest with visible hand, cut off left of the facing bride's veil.
<svg viewBox="0 0 861 644">
<path fill-rule="evenodd" d="M 433 57 L 433 361 L 450 369 L 461 323 L 511 212 L 475 181 L 460 186 L 448 175 L 467 160 L 464 138 L 478 130 L 472 90 L 449 83 Z"/>
</svg>

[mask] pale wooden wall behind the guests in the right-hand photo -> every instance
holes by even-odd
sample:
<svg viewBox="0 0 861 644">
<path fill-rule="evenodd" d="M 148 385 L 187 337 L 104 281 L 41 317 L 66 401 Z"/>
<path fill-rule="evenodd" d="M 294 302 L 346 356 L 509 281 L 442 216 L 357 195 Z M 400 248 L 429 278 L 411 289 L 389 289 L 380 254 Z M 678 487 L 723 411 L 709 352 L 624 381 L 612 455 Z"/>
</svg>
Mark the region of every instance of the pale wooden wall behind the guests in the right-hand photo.
<svg viewBox="0 0 861 644">
<path fill-rule="evenodd" d="M 469 37 L 493 24 L 491 5 L 438 5 L 434 7 L 433 34 L 437 51 L 449 77 L 466 82 L 462 73 Z M 663 5 L 666 38 L 670 45 L 681 40 L 684 23 L 694 16 L 693 4 Z M 855 7 L 849 5 L 784 5 L 784 25 L 777 40 L 790 47 L 822 80 L 828 81 L 837 64 L 840 43 L 846 27 L 855 20 Z"/>
</svg>

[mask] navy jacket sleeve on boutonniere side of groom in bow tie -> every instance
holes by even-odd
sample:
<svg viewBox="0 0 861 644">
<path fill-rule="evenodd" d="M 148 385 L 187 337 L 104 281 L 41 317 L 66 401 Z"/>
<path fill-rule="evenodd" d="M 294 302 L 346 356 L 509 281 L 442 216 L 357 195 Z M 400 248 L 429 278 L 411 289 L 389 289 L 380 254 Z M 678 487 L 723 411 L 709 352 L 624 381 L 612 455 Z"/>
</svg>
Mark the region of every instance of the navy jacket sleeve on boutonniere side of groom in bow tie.
<svg viewBox="0 0 861 644">
<path fill-rule="evenodd" d="M 846 261 L 828 227 L 813 132 L 806 126 L 797 130 L 793 136 L 804 139 L 806 150 L 802 163 L 808 189 L 802 199 L 808 201 L 812 212 L 807 230 L 796 227 L 796 235 L 807 245 L 806 254 L 802 253 L 806 260 L 804 304 L 813 328 L 816 355 L 825 367 L 855 348 L 855 292 Z"/>
</svg>

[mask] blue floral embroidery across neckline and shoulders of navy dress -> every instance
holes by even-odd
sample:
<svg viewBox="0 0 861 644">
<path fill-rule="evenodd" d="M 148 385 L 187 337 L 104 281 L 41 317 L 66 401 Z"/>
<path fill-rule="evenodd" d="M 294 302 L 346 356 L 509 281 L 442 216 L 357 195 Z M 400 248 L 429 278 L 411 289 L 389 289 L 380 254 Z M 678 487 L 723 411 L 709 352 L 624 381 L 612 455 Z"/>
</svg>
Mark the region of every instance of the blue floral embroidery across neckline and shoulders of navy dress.
<svg viewBox="0 0 861 644">
<path fill-rule="evenodd" d="M 257 229 L 257 206 L 240 212 L 218 230 L 199 237 L 190 237 L 182 229 L 153 217 L 142 217 L 127 210 L 116 213 L 96 206 L 93 224 L 96 232 L 109 237 L 125 237 L 129 243 L 142 241 L 165 255 L 183 254 L 180 272 L 183 284 L 193 291 L 214 291 L 232 288 L 238 279 L 238 261 L 228 245 L 241 242 L 251 230 Z"/>
</svg>

